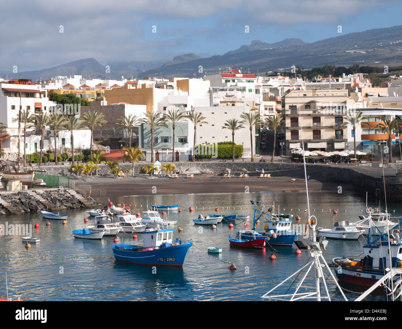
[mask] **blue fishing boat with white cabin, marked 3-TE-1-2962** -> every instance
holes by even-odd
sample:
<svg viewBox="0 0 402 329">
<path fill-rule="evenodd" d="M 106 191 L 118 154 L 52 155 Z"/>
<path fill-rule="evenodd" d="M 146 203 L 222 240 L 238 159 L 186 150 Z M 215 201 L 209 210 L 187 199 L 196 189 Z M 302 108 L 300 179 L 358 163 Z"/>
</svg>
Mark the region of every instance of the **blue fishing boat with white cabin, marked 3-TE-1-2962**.
<svg viewBox="0 0 402 329">
<path fill-rule="evenodd" d="M 173 229 L 146 229 L 143 234 L 144 245 L 113 245 L 113 256 L 119 262 L 183 267 L 187 250 L 192 243 L 182 243 L 177 238 L 172 243 Z"/>
</svg>

